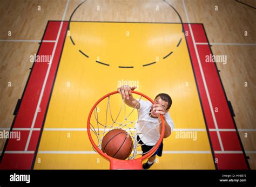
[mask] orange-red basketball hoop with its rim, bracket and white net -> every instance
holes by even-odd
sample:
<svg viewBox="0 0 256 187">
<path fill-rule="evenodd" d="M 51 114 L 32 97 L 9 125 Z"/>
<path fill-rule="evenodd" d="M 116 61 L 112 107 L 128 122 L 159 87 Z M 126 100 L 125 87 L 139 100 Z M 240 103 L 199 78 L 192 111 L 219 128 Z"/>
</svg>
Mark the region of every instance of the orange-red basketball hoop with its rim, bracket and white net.
<svg viewBox="0 0 256 187">
<path fill-rule="evenodd" d="M 133 97 L 140 101 L 140 99 L 145 98 L 149 100 L 152 104 L 154 104 L 153 100 L 143 93 L 137 92 L 137 91 L 131 91 L 133 94 Z M 137 150 L 140 146 L 138 145 L 137 136 L 139 132 L 136 131 L 136 128 L 134 127 L 134 124 L 139 121 L 139 116 L 137 117 L 137 120 L 134 120 L 136 118 L 134 111 L 137 111 L 137 109 L 131 108 L 129 106 L 126 106 L 124 99 L 121 99 L 121 96 L 119 95 L 118 91 L 113 91 L 111 93 L 108 93 L 107 95 L 100 98 L 95 105 L 92 106 L 92 109 L 89 113 L 89 117 L 87 120 L 87 133 L 89 136 L 89 139 L 92 143 L 93 149 L 96 150 L 100 155 L 102 155 L 106 160 L 110 161 L 110 169 L 142 169 L 142 161 L 147 159 L 147 157 L 150 157 L 158 147 L 160 146 L 161 141 L 164 138 L 164 131 L 165 131 L 165 125 L 164 125 L 164 118 L 163 115 L 160 115 L 161 122 L 158 124 L 161 124 L 161 133 L 160 138 L 154 145 L 154 147 L 144 155 L 140 154 L 140 152 Z M 136 96 L 134 96 L 136 95 Z M 111 102 L 110 97 L 115 96 L 116 99 L 114 100 L 114 104 L 119 106 L 120 103 L 120 110 L 117 110 L 117 106 L 114 108 L 116 111 L 111 108 Z M 99 115 L 99 105 L 104 106 L 106 109 L 106 114 Z M 106 105 L 106 106 L 105 106 Z M 129 114 L 126 115 L 127 110 L 130 110 Z M 123 113 L 122 110 L 124 110 L 124 118 L 120 117 Z M 117 117 L 113 117 L 113 113 L 117 113 Z M 94 114 L 94 118 L 92 118 L 92 114 Z M 137 113 L 138 114 L 138 113 Z M 108 118 L 108 116 L 110 116 Z M 149 116 L 150 117 L 150 116 Z M 121 120 L 120 120 L 121 118 Z M 130 119 L 131 118 L 131 119 Z M 105 121 L 105 124 L 103 123 L 103 120 Z M 102 127 L 102 128 L 99 128 Z M 143 126 L 144 127 L 144 126 Z M 159 126 L 156 126 L 158 128 Z M 104 137 L 104 135 L 109 132 L 110 130 L 113 130 L 115 128 L 119 128 L 122 130 L 125 130 L 127 133 L 129 133 L 133 139 L 133 152 L 131 156 L 127 160 L 119 160 L 115 159 L 107 154 L 105 154 L 102 151 L 101 148 L 101 142 Z M 149 130 L 150 131 L 150 130 Z M 91 133 L 93 132 L 93 133 Z"/>
</svg>

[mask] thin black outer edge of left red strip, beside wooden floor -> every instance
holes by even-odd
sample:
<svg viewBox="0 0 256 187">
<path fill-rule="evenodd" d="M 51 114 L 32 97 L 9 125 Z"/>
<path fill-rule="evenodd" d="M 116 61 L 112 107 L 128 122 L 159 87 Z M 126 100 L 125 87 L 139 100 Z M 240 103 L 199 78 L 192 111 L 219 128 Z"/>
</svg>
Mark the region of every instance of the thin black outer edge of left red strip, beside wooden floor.
<svg viewBox="0 0 256 187">
<path fill-rule="evenodd" d="M 49 20 L 48 20 L 48 22 L 47 22 L 47 24 L 46 24 L 46 27 L 44 28 L 43 37 L 42 37 L 42 39 L 41 39 L 41 42 L 39 43 L 39 47 L 38 47 L 36 56 L 38 55 L 38 53 L 39 53 L 39 51 L 40 51 L 40 49 L 41 49 L 41 46 L 42 46 L 42 44 L 43 44 L 44 35 L 45 35 L 45 33 L 46 33 L 46 30 L 47 30 L 48 25 L 49 25 Z M 32 70 L 33 70 L 35 64 L 36 64 L 36 63 L 33 62 L 32 68 L 29 68 L 29 69 L 31 69 L 31 70 L 30 70 L 30 73 L 29 73 L 29 76 L 28 76 L 28 80 L 26 80 L 26 84 L 25 84 L 25 87 L 24 87 L 24 90 L 23 90 L 23 93 L 22 93 L 21 104 L 22 104 L 23 97 L 24 97 L 24 94 L 25 94 L 25 91 L 26 91 L 26 87 L 28 87 L 28 83 L 29 83 L 29 80 L 30 80 L 30 76 L 31 76 L 31 73 L 32 73 Z M 19 111 L 17 111 L 17 114 L 18 114 L 18 112 L 19 112 Z M 16 120 L 17 114 L 14 116 L 14 120 L 12 120 L 10 132 L 12 131 L 12 128 L 14 128 L 14 124 L 15 124 L 15 120 Z M 4 153 L 5 153 L 5 150 L 6 150 L 7 145 L 8 145 L 8 141 L 9 141 L 9 139 L 6 139 L 5 144 L 4 144 L 4 148 L 3 148 L 3 151 L 2 151 L 2 154 L 1 154 L 1 156 L 0 156 L 0 163 L 2 163 Z"/>
</svg>

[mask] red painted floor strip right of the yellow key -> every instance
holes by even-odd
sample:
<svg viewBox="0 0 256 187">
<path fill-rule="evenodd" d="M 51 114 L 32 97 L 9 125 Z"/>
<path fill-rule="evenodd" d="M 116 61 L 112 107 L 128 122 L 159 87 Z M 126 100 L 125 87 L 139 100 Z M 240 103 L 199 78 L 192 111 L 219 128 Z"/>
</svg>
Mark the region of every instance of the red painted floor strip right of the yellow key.
<svg viewBox="0 0 256 187">
<path fill-rule="evenodd" d="M 191 24 L 191 29 L 195 43 L 208 43 L 202 24 Z M 213 115 L 215 116 L 219 129 L 234 129 L 235 124 L 228 107 L 225 92 L 221 85 L 217 67 L 214 62 L 206 62 L 206 55 L 212 54 L 210 46 L 196 44 L 196 49 L 198 51 L 197 56 L 192 33 L 188 24 L 184 24 L 184 30 L 208 129 L 216 128 Z M 201 73 L 201 70 L 203 70 L 203 74 Z M 205 82 L 203 81 L 203 76 L 205 77 Z M 210 109 L 205 85 L 207 86 L 208 95 L 210 96 L 212 103 L 213 114 Z M 218 109 L 218 111 L 215 109 Z M 246 157 L 242 152 L 242 145 L 239 141 L 237 132 L 220 132 L 219 134 L 220 140 L 217 132 L 210 132 L 210 140 L 218 169 L 248 169 Z M 220 141 L 223 144 L 223 150 L 221 150 Z"/>
</svg>

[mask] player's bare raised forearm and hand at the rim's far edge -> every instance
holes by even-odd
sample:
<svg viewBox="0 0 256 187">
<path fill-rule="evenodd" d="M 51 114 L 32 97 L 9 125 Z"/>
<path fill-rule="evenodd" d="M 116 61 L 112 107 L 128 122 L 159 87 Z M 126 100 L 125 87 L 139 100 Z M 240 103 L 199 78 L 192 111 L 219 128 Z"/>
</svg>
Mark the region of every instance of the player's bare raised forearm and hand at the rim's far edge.
<svg viewBox="0 0 256 187">
<path fill-rule="evenodd" d="M 126 105 L 130 107 L 135 107 L 136 109 L 140 108 L 140 103 L 138 100 L 134 99 L 132 97 L 132 92 L 131 90 L 135 90 L 137 87 L 129 87 L 129 85 L 123 85 L 122 87 L 118 88 L 118 92 L 120 95 L 122 95 L 122 98 L 124 98 L 124 102 Z"/>
</svg>

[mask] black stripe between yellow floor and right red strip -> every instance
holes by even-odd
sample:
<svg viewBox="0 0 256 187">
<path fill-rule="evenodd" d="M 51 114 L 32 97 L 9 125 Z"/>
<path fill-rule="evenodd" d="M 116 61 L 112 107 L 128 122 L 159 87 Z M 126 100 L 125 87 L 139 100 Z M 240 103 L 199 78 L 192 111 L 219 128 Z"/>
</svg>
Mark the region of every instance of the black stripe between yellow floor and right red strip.
<svg viewBox="0 0 256 187">
<path fill-rule="evenodd" d="M 211 136 L 210 136 L 210 131 L 209 131 L 209 128 L 208 128 L 208 125 L 207 125 L 207 121 L 206 121 L 206 117 L 205 117 L 205 111 L 204 111 L 201 95 L 200 95 L 199 88 L 198 88 L 197 77 L 196 77 L 196 73 L 194 72 L 194 66 L 193 66 L 193 63 L 192 63 L 190 48 L 189 48 L 189 46 L 187 44 L 187 38 L 186 38 L 185 32 L 184 32 L 184 37 L 185 37 L 185 40 L 186 40 L 188 54 L 190 55 L 190 63 L 191 63 L 191 67 L 192 67 L 193 74 L 194 74 L 194 81 L 196 82 L 196 85 L 197 85 L 198 97 L 199 97 L 199 100 L 200 100 L 201 110 L 202 110 L 202 113 L 203 113 L 203 116 L 204 116 L 205 127 L 206 127 L 206 131 L 207 131 L 207 135 L 208 135 L 208 140 L 209 140 L 210 147 L 211 147 L 213 163 L 214 163 L 215 169 L 218 169 L 217 163 L 215 163 L 215 154 L 214 154 L 214 150 L 213 150 L 213 146 L 212 146 L 212 140 L 211 140 Z"/>
</svg>

